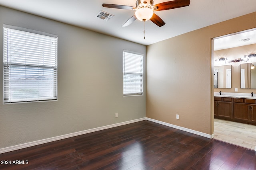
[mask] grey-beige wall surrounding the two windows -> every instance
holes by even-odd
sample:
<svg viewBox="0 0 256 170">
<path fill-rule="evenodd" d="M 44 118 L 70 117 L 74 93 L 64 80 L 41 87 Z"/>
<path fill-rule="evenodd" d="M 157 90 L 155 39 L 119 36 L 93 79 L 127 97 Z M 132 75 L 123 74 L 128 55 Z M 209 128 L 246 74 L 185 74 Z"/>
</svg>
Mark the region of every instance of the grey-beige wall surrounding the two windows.
<svg viewBox="0 0 256 170">
<path fill-rule="evenodd" d="M 58 101 L 3 104 L 0 90 L 0 148 L 146 117 L 146 95 L 122 89 L 123 50 L 146 56 L 146 46 L 0 6 L 0 32 L 4 23 L 58 35 Z M 2 76 L 0 64 L 0 89 Z"/>
</svg>

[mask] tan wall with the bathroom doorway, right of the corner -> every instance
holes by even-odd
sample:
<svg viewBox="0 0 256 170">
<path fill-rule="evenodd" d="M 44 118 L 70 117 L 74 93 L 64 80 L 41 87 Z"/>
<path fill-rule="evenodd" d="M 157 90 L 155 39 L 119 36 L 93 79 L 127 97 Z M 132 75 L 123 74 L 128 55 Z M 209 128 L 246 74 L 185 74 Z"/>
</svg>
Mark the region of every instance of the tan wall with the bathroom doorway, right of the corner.
<svg viewBox="0 0 256 170">
<path fill-rule="evenodd" d="M 213 134 L 211 39 L 254 27 L 256 12 L 149 45 L 146 116 Z"/>
</svg>

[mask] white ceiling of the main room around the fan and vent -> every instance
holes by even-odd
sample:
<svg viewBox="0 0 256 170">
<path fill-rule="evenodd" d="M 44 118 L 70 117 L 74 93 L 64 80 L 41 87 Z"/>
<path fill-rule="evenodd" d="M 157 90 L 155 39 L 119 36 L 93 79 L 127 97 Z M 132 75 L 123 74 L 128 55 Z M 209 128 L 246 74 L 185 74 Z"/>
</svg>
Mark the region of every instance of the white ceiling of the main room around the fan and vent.
<svg viewBox="0 0 256 170">
<path fill-rule="evenodd" d="M 154 4 L 166 1 L 168 0 L 154 0 Z M 151 21 L 146 21 L 144 39 L 142 21 L 136 20 L 131 25 L 122 27 L 135 11 L 102 7 L 103 3 L 135 6 L 135 2 L 136 0 L 0 0 L 0 5 L 143 45 L 256 12 L 255 0 L 190 0 L 190 5 L 186 7 L 156 11 L 166 24 L 158 27 Z M 108 21 L 97 18 L 96 15 L 101 10 L 114 17 Z"/>
</svg>

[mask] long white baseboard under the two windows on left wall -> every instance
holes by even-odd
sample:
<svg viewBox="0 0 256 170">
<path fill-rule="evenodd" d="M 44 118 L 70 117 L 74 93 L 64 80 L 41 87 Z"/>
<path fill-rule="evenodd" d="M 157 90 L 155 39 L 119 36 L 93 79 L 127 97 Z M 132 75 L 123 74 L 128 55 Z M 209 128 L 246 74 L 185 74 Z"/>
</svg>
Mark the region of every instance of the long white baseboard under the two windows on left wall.
<svg viewBox="0 0 256 170">
<path fill-rule="evenodd" d="M 88 130 L 85 130 L 85 131 L 79 131 L 79 132 L 75 132 L 75 133 L 61 135 L 61 136 L 57 136 L 57 137 L 51 137 L 51 138 L 48 138 L 48 139 L 42 139 L 42 140 L 39 140 L 39 141 L 33 141 L 33 142 L 24 143 L 24 144 L 20 144 L 20 145 L 15 145 L 15 146 L 11 146 L 11 147 L 1 148 L 0 149 L 0 154 L 1 153 L 5 153 L 5 152 L 10 152 L 10 151 L 13 151 L 13 150 L 18 150 L 18 149 L 24 149 L 24 148 L 27 148 L 27 147 L 32 147 L 32 146 L 35 146 L 35 145 L 40 145 L 40 144 L 44 144 L 44 143 L 58 141 L 58 140 L 66 139 L 66 138 L 69 138 L 69 137 L 74 137 L 74 136 L 78 136 L 78 135 L 84 135 L 86 133 L 101 131 L 101 130 L 109 129 L 109 128 L 112 128 L 112 127 L 117 127 L 117 126 L 122 126 L 122 125 L 130 124 L 130 123 L 135 123 L 135 122 L 143 121 L 143 120 L 146 120 L 146 117 L 140 118 L 140 119 L 131 120 L 131 121 L 125 121 L 125 122 L 122 122 L 122 123 L 116 123 L 116 124 L 113 124 L 113 125 L 97 127 L 97 128 L 94 128 L 94 129 L 88 129 Z"/>
</svg>

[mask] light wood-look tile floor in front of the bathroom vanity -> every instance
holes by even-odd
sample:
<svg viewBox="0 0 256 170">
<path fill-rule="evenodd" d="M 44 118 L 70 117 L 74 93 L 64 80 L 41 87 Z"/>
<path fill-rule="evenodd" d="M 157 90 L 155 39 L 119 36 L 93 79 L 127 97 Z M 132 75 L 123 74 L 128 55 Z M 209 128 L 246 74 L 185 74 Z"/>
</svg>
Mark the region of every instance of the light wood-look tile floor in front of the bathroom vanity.
<svg viewBox="0 0 256 170">
<path fill-rule="evenodd" d="M 256 149 L 256 125 L 214 119 L 214 139 Z"/>
</svg>

